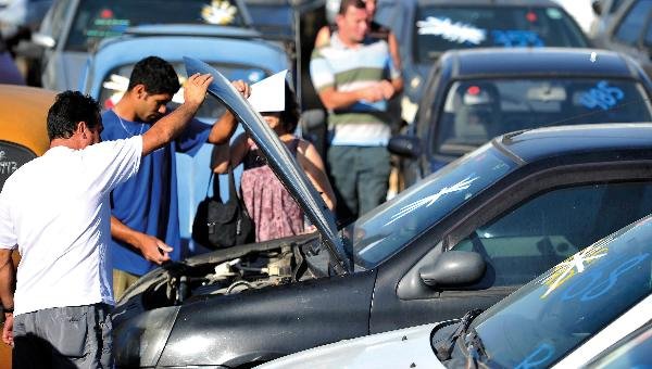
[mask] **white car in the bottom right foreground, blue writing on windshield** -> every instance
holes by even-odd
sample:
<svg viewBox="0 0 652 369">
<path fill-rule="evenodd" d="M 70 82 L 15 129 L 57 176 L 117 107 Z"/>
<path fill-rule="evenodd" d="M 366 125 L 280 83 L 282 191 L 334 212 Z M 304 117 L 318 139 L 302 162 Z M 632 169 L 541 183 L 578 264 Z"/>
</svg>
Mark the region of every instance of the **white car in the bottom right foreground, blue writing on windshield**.
<svg viewBox="0 0 652 369">
<path fill-rule="evenodd" d="M 651 266 L 649 216 L 482 314 L 472 310 L 453 321 L 341 341 L 259 368 L 649 367 Z M 607 348 L 612 355 L 600 359 Z"/>
</svg>

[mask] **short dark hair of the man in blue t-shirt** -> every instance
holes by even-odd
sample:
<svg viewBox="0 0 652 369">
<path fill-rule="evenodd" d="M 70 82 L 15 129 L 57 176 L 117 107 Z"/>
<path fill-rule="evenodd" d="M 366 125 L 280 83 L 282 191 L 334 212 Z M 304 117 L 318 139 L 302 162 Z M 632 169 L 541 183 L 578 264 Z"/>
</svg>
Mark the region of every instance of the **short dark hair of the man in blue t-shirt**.
<svg viewBox="0 0 652 369">
<path fill-rule="evenodd" d="M 159 56 L 147 56 L 134 65 L 129 77 L 130 91 L 136 85 L 143 85 L 145 90 L 151 94 L 175 94 L 179 87 L 179 77 L 174 67 Z"/>
</svg>

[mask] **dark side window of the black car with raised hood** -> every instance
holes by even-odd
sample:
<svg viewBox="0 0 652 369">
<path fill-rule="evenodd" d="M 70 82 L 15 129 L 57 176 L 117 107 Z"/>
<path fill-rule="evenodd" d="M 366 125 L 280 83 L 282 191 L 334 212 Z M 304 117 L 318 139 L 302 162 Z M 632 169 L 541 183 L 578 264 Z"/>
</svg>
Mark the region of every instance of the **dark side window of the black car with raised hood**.
<svg viewBox="0 0 652 369">
<path fill-rule="evenodd" d="M 453 249 L 478 252 L 481 284 L 524 284 L 606 234 L 652 213 L 652 182 L 562 188 L 525 201 Z"/>
</svg>

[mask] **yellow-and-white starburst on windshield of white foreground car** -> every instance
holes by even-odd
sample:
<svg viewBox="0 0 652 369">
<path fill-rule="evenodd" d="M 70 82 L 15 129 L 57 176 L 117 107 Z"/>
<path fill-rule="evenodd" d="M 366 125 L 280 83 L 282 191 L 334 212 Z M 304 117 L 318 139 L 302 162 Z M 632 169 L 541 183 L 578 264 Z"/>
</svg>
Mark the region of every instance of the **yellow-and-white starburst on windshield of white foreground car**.
<svg viewBox="0 0 652 369">
<path fill-rule="evenodd" d="M 578 252 L 565 262 L 557 264 L 550 271 L 549 276 L 544 276 L 540 280 L 542 285 L 548 285 L 548 290 L 541 295 L 541 298 L 548 297 L 550 293 L 566 283 L 570 278 L 584 272 L 587 266 L 595 263 L 599 258 L 606 256 L 606 245 L 611 241 L 611 238 L 605 238 Z"/>
</svg>

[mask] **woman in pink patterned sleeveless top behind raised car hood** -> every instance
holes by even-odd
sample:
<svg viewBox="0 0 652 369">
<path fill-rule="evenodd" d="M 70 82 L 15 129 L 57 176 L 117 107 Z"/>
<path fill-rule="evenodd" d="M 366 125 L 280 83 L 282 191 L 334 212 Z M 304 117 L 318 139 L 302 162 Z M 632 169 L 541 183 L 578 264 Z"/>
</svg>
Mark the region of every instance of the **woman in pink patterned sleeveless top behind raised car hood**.
<svg viewBox="0 0 652 369">
<path fill-rule="evenodd" d="M 261 115 L 294 155 L 328 208 L 333 211 L 336 200 L 324 162 L 312 143 L 293 133 L 299 124 L 299 106 L 287 80 L 284 85 L 285 92 L 278 93 L 285 96 L 285 102 L 279 105 L 278 111 L 261 112 Z M 240 192 L 255 227 L 256 242 L 300 234 L 309 230 L 304 224 L 303 211 L 276 178 L 247 133 L 238 136 L 230 145 L 214 148 L 214 173 L 227 173 L 229 165 L 236 167 L 240 163 L 243 164 Z"/>
</svg>

